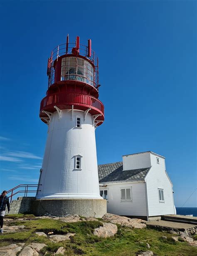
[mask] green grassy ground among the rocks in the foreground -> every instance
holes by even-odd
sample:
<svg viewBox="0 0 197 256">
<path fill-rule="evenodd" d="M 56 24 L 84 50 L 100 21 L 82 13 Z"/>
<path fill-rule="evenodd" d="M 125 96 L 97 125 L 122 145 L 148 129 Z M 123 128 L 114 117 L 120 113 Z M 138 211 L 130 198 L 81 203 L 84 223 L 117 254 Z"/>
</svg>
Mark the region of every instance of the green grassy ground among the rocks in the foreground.
<svg viewBox="0 0 197 256">
<path fill-rule="evenodd" d="M 20 218 L 24 217 L 20 215 Z M 28 218 L 28 217 L 26 217 Z M 31 217 L 32 218 L 32 217 Z M 25 225 L 26 230 L 16 233 L 0 235 L 0 246 L 11 243 L 23 242 L 28 245 L 32 242 L 45 243 L 47 246 L 42 253 L 51 255 L 63 246 L 65 255 L 87 255 L 87 256 L 135 256 L 140 251 L 153 251 L 158 256 L 196 256 L 197 248 L 190 246 L 187 242 L 175 242 L 172 234 L 156 231 L 154 229 L 137 229 L 118 226 L 118 233 L 111 238 L 98 238 L 93 235 L 94 228 L 102 226 L 101 221 L 81 221 L 76 223 L 65 223 L 53 219 L 35 219 L 27 221 L 15 220 L 9 222 L 12 225 Z M 76 233 L 70 241 L 53 243 L 44 236 L 37 236 L 35 232 L 48 234 Z M 163 238 L 166 236 L 166 238 Z M 147 243 L 150 248 L 147 248 Z"/>
</svg>

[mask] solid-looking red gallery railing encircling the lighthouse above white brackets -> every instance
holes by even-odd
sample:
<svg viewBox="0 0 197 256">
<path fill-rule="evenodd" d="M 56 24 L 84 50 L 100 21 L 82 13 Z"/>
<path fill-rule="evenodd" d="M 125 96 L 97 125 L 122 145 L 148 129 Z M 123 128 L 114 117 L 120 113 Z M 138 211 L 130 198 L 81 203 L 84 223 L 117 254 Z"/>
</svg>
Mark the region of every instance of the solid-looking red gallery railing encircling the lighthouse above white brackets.
<svg viewBox="0 0 197 256">
<path fill-rule="evenodd" d="M 90 107 L 98 110 L 98 112 L 104 116 L 104 106 L 101 101 L 93 96 L 75 92 L 59 92 L 44 97 L 40 104 L 40 111 L 44 110 L 46 107 L 65 104 Z"/>
</svg>

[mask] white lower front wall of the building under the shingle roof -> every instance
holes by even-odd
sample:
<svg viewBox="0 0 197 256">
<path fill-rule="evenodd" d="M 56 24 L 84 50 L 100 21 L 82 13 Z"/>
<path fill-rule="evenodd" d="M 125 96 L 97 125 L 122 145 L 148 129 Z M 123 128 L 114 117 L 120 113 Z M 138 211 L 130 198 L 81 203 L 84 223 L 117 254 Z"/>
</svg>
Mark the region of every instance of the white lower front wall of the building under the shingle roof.
<svg viewBox="0 0 197 256">
<path fill-rule="evenodd" d="M 132 201 L 121 201 L 121 188 L 132 188 Z M 122 182 L 112 183 L 108 188 L 107 212 L 117 215 L 147 216 L 145 183 L 144 182 Z"/>
</svg>

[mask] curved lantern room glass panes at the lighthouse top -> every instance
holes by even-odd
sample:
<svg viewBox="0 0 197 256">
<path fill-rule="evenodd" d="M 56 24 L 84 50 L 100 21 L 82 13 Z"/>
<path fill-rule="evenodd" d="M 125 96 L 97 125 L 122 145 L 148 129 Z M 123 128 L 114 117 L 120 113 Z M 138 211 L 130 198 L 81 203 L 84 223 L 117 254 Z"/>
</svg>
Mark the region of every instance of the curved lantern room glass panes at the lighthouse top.
<svg viewBox="0 0 197 256">
<path fill-rule="evenodd" d="M 76 80 L 94 86 L 94 68 L 83 58 L 62 58 L 61 81 Z"/>
</svg>

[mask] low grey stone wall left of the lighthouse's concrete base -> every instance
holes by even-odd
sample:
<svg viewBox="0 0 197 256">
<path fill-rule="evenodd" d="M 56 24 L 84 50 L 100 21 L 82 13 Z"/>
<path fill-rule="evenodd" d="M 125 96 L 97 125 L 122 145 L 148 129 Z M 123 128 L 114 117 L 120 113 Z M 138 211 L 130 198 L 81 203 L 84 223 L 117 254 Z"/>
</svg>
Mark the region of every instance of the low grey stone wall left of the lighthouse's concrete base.
<svg viewBox="0 0 197 256">
<path fill-rule="evenodd" d="M 17 200 L 13 200 L 10 203 L 10 212 L 7 212 L 7 207 L 5 214 L 17 214 L 17 213 L 31 213 L 32 200 L 35 197 L 19 197 Z"/>
</svg>

